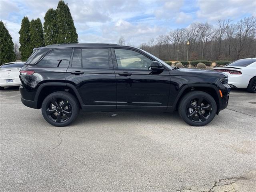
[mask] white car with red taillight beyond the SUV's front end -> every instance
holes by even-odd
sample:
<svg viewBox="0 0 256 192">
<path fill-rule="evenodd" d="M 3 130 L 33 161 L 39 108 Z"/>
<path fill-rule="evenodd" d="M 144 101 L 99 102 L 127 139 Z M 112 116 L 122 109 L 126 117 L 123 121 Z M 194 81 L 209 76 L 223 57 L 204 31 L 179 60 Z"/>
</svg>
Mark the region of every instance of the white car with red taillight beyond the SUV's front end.
<svg viewBox="0 0 256 192">
<path fill-rule="evenodd" d="M 231 88 L 246 88 L 248 92 L 256 93 L 256 58 L 236 60 L 214 70 L 228 75 Z"/>
</svg>

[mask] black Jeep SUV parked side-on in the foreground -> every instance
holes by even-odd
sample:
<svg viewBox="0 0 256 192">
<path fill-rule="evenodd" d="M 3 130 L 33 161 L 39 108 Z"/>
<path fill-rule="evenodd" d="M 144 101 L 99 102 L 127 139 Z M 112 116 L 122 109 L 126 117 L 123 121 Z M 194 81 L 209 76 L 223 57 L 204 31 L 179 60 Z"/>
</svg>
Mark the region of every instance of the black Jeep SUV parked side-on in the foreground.
<svg viewBox="0 0 256 192">
<path fill-rule="evenodd" d="M 116 44 L 35 48 L 20 70 L 21 101 L 47 122 L 66 126 L 84 111 L 178 110 L 193 126 L 228 104 L 228 77 L 169 66 L 144 50 Z"/>
</svg>

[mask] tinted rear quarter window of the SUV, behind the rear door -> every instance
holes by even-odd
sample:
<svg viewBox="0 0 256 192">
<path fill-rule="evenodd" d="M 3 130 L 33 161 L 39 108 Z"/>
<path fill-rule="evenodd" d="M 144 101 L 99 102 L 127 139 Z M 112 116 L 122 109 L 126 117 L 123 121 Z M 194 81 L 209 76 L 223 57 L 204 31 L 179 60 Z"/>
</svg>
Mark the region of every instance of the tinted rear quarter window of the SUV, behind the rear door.
<svg viewBox="0 0 256 192">
<path fill-rule="evenodd" d="M 40 67 L 68 67 L 72 49 L 56 49 L 48 53 L 40 62 Z"/>
</svg>

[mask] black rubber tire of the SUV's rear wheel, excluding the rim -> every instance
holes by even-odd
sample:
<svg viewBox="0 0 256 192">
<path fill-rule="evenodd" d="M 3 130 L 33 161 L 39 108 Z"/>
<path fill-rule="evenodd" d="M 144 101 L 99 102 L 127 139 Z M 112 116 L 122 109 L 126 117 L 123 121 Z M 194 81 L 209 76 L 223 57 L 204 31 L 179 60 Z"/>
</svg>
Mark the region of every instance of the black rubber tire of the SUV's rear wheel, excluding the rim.
<svg viewBox="0 0 256 192">
<path fill-rule="evenodd" d="M 76 99 L 74 98 L 74 96 L 70 96 L 71 94 L 70 93 L 62 93 L 62 92 L 56 92 L 56 93 L 52 93 L 50 95 L 48 95 L 43 103 L 42 103 L 42 115 L 44 117 L 44 119 L 52 124 L 53 126 L 59 126 L 59 127 L 62 127 L 62 126 L 67 126 L 68 124 L 70 124 L 71 122 L 73 122 L 76 118 L 76 116 L 78 115 L 78 112 L 79 112 L 79 107 L 77 106 L 77 101 Z M 65 100 L 68 100 L 69 104 L 71 105 L 72 107 L 72 114 L 71 114 L 71 117 L 66 120 L 65 122 L 54 122 L 51 118 L 49 118 L 49 116 L 46 114 L 46 109 L 48 108 L 47 104 L 48 102 L 51 100 L 51 99 L 54 99 L 54 98 L 63 98 Z"/>
</svg>

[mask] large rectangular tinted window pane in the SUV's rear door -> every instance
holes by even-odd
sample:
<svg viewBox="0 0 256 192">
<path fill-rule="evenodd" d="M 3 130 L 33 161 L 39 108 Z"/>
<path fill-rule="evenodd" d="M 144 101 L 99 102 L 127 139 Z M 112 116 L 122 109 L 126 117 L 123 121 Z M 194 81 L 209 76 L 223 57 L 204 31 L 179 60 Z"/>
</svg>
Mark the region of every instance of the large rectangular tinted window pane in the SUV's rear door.
<svg viewBox="0 0 256 192">
<path fill-rule="evenodd" d="M 109 68 L 108 49 L 82 49 L 82 64 L 83 68 Z"/>
</svg>

